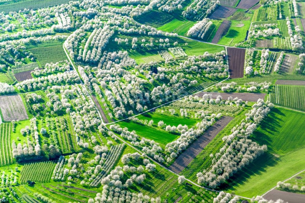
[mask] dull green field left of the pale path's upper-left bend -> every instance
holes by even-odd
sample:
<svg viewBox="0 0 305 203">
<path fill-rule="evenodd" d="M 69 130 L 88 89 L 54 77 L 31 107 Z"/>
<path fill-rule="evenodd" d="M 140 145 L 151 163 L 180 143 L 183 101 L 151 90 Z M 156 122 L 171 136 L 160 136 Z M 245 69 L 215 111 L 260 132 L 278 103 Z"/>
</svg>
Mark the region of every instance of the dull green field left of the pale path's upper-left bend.
<svg viewBox="0 0 305 203">
<path fill-rule="evenodd" d="M 55 63 L 67 59 L 63 50 L 63 42 L 60 41 L 43 42 L 29 48 L 29 50 L 34 54 L 41 66 L 45 66 L 46 63 Z"/>
</svg>

